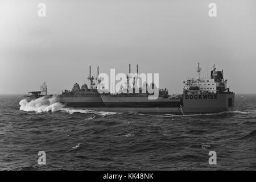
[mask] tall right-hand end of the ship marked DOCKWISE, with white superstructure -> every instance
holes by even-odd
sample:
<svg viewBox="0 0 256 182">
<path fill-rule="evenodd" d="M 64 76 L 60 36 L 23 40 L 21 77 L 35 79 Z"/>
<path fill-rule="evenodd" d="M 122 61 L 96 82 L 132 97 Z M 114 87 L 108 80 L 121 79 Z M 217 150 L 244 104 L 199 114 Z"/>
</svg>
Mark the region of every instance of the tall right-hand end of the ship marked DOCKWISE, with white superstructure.
<svg viewBox="0 0 256 182">
<path fill-rule="evenodd" d="M 234 93 L 227 88 L 227 80 L 224 80 L 223 70 L 210 71 L 210 79 L 200 78 L 200 65 L 197 65 L 197 79 L 184 81 L 185 87 L 182 97 L 181 110 L 183 113 L 217 113 L 229 111 L 234 107 Z"/>
</svg>

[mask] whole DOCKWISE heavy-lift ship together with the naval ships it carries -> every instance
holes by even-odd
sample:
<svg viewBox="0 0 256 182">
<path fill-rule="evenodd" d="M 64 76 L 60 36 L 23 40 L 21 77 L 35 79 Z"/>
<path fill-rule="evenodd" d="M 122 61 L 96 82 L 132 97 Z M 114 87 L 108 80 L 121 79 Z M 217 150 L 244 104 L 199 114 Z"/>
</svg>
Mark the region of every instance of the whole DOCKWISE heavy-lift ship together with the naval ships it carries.
<svg viewBox="0 0 256 182">
<path fill-rule="evenodd" d="M 199 64 L 196 71 L 198 73 L 197 78 L 189 78 L 183 82 L 185 85 L 183 94 L 170 95 L 167 89 L 159 89 L 158 98 L 148 100 L 150 93 L 142 93 L 142 88 L 139 88 L 137 93 L 134 92 L 133 88 L 132 93 L 98 93 L 94 77 L 91 75 L 91 69 L 89 69 L 90 88 L 86 84 L 83 84 L 80 88 L 79 84 L 76 83 L 71 91 L 64 90 L 62 94 L 57 95 L 56 101 L 69 107 L 107 107 L 109 110 L 121 108 L 130 110 L 133 108 L 137 111 L 156 111 L 170 114 L 218 113 L 233 110 L 234 93 L 230 92 L 227 87 L 223 70 L 216 71 L 213 64 L 209 79 L 200 77 L 201 68 Z M 130 65 L 129 73 L 131 73 Z M 96 80 L 100 84 L 102 78 L 97 76 Z M 127 83 L 129 84 L 129 81 Z M 43 88 L 47 90 L 45 83 Z M 126 88 L 130 88 L 129 85 Z M 152 88 L 154 88 L 154 84 Z M 36 95 L 36 97 L 42 96 L 44 95 L 38 95 L 38 93 Z"/>
</svg>

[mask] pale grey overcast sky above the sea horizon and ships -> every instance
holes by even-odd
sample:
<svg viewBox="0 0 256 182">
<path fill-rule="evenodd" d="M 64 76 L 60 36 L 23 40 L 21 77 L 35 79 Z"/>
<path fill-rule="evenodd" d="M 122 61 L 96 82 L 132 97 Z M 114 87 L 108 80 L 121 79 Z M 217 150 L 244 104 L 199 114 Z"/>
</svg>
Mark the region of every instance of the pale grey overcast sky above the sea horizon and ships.
<svg viewBox="0 0 256 182">
<path fill-rule="evenodd" d="M 38 4 L 46 4 L 39 18 Z M 216 3 L 217 17 L 208 16 Z M 49 93 L 88 83 L 100 72 L 159 73 L 160 86 L 181 93 L 183 80 L 213 63 L 236 93 L 256 93 L 255 0 L 1 0 L 0 93 Z"/>
</svg>

